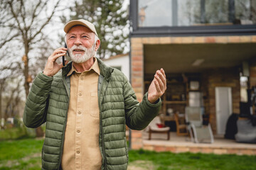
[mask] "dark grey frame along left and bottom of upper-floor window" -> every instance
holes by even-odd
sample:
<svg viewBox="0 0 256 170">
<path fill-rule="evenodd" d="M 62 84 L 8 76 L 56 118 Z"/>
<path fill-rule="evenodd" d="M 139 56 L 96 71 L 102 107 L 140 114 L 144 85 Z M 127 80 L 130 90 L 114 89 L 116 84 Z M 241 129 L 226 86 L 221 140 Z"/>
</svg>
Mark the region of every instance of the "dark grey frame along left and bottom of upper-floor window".
<svg viewBox="0 0 256 170">
<path fill-rule="evenodd" d="M 256 24 L 231 26 L 138 26 L 138 0 L 130 0 L 129 19 L 132 37 L 147 36 L 211 36 L 211 35 L 256 35 Z"/>
</svg>

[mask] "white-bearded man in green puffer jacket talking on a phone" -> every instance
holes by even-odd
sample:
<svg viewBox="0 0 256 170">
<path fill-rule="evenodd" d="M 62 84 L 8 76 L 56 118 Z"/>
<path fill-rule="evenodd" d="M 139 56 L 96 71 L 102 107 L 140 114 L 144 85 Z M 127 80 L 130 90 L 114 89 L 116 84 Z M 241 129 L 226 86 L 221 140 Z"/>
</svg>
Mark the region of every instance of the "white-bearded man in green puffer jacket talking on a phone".
<svg viewBox="0 0 256 170">
<path fill-rule="evenodd" d="M 28 94 L 23 122 L 46 122 L 42 169 L 127 169 L 125 125 L 142 130 L 157 115 L 166 90 L 164 69 L 156 71 L 139 103 L 127 78 L 96 58 L 100 47 L 95 26 L 68 22 L 67 47 L 53 52 Z M 68 50 L 72 62 L 56 60 Z M 61 69 L 61 70 L 60 70 Z"/>
</svg>

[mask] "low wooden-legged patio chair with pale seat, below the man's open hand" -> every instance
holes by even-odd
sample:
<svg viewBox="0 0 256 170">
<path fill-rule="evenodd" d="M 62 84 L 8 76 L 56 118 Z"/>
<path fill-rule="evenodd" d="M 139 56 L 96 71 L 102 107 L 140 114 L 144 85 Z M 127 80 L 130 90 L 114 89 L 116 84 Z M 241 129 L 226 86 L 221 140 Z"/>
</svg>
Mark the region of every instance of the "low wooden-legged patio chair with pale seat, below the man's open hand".
<svg viewBox="0 0 256 170">
<path fill-rule="evenodd" d="M 156 116 L 156 118 L 154 118 L 151 123 L 149 123 L 148 126 L 148 132 L 149 132 L 149 140 L 151 140 L 151 134 L 152 133 L 165 133 L 167 135 L 167 140 L 170 139 L 170 127 L 164 127 L 162 125 L 161 127 L 161 120 L 159 118 L 159 116 Z"/>
</svg>

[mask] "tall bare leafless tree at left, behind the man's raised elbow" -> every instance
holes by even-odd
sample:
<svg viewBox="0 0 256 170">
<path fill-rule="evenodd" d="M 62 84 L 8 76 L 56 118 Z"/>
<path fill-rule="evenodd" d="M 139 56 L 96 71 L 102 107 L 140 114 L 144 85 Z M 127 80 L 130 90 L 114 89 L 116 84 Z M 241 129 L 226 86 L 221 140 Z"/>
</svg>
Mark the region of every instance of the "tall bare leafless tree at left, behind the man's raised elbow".
<svg viewBox="0 0 256 170">
<path fill-rule="evenodd" d="M 28 96 L 30 83 L 32 77 L 29 70 L 29 52 L 31 50 L 31 45 L 39 42 L 43 39 L 43 28 L 46 28 L 50 20 L 55 15 L 58 10 L 58 5 L 60 0 L 53 4 L 53 8 L 49 9 L 50 3 L 52 1 L 8 1 L 8 6 L 11 11 L 11 16 L 14 18 L 14 23 L 7 26 L 17 30 L 18 34 L 21 35 L 21 40 L 23 42 L 24 55 L 22 57 L 23 61 L 23 76 L 25 78 L 24 89 L 26 91 L 26 96 Z"/>
</svg>

